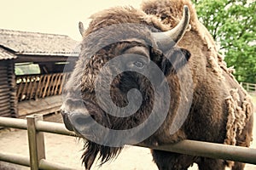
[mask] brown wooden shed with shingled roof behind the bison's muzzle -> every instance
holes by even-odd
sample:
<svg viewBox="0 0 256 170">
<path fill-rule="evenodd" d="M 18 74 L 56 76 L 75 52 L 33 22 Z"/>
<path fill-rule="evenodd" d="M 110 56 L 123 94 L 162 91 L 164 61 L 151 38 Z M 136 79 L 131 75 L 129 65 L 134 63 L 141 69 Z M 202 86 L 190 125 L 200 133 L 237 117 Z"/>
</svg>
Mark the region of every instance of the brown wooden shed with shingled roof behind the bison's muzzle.
<svg viewBox="0 0 256 170">
<path fill-rule="evenodd" d="M 59 111 L 78 56 L 79 42 L 70 37 L 0 29 L 0 116 Z"/>
</svg>

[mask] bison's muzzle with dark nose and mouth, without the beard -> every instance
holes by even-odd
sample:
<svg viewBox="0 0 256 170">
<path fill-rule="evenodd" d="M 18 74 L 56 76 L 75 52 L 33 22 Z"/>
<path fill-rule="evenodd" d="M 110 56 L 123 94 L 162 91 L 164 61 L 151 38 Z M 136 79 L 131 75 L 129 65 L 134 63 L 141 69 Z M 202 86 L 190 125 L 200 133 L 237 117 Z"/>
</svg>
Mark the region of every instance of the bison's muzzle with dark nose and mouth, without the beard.
<svg viewBox="0 0 256 170">
<path fill-rule="evenodd" d="M 84 139 L 99 139 L 103 141 L 108 135 L 98 130 L 109 127 L 108 116 L 97 105 L 81 99 L 67 99 L 61 106 L 63 122 L 68 130 L 74 131 Z"/>
</svg>

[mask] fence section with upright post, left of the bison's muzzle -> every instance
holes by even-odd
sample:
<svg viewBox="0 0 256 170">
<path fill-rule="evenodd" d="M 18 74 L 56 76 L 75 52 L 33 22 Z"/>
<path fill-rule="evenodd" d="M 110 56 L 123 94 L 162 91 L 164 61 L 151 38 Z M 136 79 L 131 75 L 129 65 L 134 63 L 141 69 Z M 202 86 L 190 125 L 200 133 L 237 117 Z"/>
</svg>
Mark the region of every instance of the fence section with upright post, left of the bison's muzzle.
<svg viewBox="0 0 256 170">
<path fill-rule="evenodd" d="M 31 167 L 32 170 L 56 169 L 74 170 L 61 164 L 45 160 L 44 133 L 57 133 L 68 136 L 76 136 L 67 131 L 63 123 L 44 122 L 42 115 L 26 116 L 26 120 L 0 117 L 0 127 L 12 127 L 27 130 L 30 157 L 16 154 L 0 153 L 0 161 L 7 161 L 18 165 Z"/>
</svg>

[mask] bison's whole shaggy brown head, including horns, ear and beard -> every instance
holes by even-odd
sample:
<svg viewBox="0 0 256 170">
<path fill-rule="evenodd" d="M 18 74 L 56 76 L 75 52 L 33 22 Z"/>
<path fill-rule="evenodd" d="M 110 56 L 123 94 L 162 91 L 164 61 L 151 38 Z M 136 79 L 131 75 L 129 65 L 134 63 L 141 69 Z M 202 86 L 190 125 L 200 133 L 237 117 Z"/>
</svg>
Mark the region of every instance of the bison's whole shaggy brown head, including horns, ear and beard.
<svg viewBox="0 0 256 170">
<path fill-rule="evenodd" d="M 158 144 L 172 137 L 183 96 L 178 79 L 186 79 L 177 73 L 190 57 L 188 50 L 175 47 L 189 24 L 187 7 L 180 23 L 166 32 L 119 20 L 101 24 L 94 23 L 98 27 L 90 34 L 79 24 L 85 36 L 61 106 L 67 129 L 86 139 L 87 169 L 98 153 L 103 163 L 124 144 Z"/>
</svg>

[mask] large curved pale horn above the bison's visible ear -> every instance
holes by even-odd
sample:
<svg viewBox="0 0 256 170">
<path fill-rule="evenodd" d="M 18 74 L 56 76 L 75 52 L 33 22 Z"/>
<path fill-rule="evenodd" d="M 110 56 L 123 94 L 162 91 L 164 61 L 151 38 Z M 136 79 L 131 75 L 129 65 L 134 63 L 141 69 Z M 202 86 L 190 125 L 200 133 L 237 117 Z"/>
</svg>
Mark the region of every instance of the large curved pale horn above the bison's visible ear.
<svg viewBox="0 0 256 170">
<path fill-rule="evenodd" d="M 163 48 L 164 50 L 172 48 L 183 37 L 187 27 L 189 26 L 189 18 L 189 8 L 185 5 L 183 7 L 183 18 L 177 26 L 172 28 L 170 31 L 152 33 L 154 40 L 160 45 L 160 48 Z"/>
</svg>

